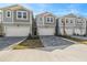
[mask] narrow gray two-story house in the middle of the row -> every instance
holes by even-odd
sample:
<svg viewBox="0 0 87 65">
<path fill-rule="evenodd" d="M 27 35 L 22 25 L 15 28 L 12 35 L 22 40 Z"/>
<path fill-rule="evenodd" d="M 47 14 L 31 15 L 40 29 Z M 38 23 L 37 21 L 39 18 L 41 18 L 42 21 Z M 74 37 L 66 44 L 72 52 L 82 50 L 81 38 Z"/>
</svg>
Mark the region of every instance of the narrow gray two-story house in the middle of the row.
<svg viewBox="0 0 87 65">
<path fill-rule="evenodd" d="M 37 35 L 55 35 L 56 15 L 43 12 L 35 17 Z"/>
</svg>

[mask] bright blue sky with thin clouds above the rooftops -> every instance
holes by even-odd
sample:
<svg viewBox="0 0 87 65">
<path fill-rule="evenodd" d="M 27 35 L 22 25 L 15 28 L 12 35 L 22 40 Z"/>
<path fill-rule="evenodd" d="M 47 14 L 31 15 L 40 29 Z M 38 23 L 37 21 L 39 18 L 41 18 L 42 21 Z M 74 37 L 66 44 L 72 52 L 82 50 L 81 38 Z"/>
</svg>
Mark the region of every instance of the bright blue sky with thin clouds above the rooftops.
<svg viewBox="0 0 87 65">
<path fill-rule="evenodd" d="M 12 4 L 13 3 L 0 3 L 0 8 Z M 68 13 L 87 17 L 87 3 L 20 3 L 20 4 L 28 8 L 29 10 L 32 10 L 35 15 L 44 11 L 48 11 L 57 17 L 66 15 Z"/>
</svg>

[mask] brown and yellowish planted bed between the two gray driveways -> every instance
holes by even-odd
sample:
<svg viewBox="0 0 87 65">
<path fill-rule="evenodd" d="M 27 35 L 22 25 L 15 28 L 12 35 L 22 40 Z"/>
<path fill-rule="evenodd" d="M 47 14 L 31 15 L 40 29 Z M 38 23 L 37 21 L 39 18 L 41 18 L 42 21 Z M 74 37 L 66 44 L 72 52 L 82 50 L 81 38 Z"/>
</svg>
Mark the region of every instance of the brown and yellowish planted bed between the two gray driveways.
<svg viewBox="0 0 87 65">
<path fill-rule="evenodd" d="M 22 43 L 15 45 L 13 50 L 36 48 L 36 47 L 44 47 L 40 41 L 40 37 L 30 37 L 23 41 Z"/>
</svg>

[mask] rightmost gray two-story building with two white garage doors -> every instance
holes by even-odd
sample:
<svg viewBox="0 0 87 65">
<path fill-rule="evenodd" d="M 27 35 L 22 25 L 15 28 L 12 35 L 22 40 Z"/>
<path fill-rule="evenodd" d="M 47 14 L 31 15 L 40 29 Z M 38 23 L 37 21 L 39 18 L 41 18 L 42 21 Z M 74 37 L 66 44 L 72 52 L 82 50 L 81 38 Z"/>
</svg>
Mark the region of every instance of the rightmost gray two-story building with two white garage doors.
<svg viewBox="0 0 87 65">
<path fill-rule="evenodd" d="M 57 35 L 86 35 L 87 19 L 69 13 L 57 20 Z"/>
</svg>

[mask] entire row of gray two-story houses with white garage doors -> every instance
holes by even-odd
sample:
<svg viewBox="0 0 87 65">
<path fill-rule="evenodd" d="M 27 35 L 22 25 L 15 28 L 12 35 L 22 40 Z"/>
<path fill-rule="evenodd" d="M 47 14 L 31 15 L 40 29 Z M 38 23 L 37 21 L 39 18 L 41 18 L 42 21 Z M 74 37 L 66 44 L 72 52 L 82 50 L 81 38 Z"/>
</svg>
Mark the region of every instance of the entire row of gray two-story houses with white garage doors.
<svg viewBox="0 0 87 65">
<path fill-rule="evenodd" d="M 1 36 L 87 35 L 87 19 L 69 13 L 56 17 L 43 12 L 33 18 L 33 11 L 14 4 L 0 9 Z"/>
</svg>

